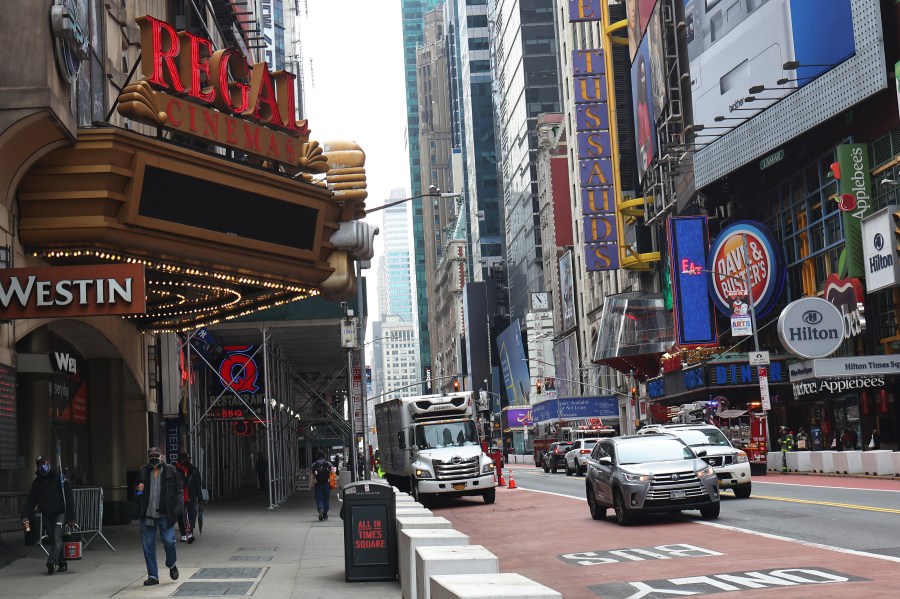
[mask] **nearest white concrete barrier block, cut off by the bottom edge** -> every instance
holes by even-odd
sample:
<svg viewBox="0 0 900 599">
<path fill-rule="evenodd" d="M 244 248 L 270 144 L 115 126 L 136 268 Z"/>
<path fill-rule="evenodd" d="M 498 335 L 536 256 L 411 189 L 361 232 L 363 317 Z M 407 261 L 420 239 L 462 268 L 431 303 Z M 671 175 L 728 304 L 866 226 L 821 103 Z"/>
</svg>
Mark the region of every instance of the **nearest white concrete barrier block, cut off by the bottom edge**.
<svg viewBox="0 0 900 599">
<path fill-rule="evenodd" d="M 562 599 L 562 593 L 521 574 L 439 574 L 431 577 L 431 599 Z"/>
</svg>

